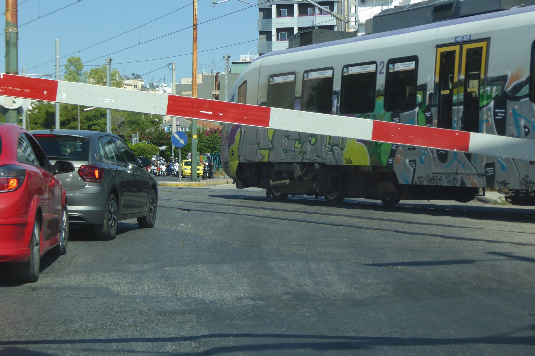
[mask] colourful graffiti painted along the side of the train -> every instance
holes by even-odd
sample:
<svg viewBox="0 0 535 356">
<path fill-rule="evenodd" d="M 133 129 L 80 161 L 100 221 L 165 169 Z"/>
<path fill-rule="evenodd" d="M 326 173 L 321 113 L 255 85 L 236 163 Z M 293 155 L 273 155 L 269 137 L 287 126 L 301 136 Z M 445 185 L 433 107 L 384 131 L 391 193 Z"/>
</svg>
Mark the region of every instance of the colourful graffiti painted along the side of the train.
<svg viewBox="0 0 535 356">
<path fill-rule="evenodd" d="M 528 75 L 488 78 L 480 87 L 479 132 L 535 140 L 535 106 L 529 99 Z M 381 121 L 420 126 L 437 126 L 437 104 L 425 85 L 417 88 L 416 108 L 386 112 L 383 96 L 377 97 L 372 114 L 355 115 Z M 452 128 L 462 127 L 463 102 L 453 107 Z M 477 129 L 477 124 L 475 125 Z M 238 149 L 240 162 L 318 162 L 327 165 L 388 166 L 403 184 L 450 185 L 531 190 L 535 182 L 535 162 L 482 154 L 445 151 L 408 145 L 312 135 L 296 131 L 235 126 L 228 142 Z"/>
</svg>

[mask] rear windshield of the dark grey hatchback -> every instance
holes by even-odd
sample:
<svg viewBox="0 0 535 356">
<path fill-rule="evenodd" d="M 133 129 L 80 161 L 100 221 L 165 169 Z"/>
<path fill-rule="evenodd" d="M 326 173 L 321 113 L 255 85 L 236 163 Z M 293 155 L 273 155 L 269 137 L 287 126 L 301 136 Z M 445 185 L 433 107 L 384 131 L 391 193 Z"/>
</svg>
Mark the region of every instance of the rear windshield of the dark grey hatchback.
<svg viewBox="0 0 535 356">
<path fill-rule="evenodd" d="M 89 141 L 86 138 L 52 135 L 34 137 L 51 160 L 89 160 Z"/>
</svg>

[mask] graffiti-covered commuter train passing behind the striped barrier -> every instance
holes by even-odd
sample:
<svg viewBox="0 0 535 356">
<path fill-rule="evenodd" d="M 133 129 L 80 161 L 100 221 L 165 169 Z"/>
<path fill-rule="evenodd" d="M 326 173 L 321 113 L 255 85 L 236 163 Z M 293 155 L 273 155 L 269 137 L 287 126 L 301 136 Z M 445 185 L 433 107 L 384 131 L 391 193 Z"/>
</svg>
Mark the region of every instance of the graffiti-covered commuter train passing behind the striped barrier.
<svg viewBox="0 0 535 356">
<path fill-rule="evenodd" d="M 533 140 L 535 5 L 266 53 L 229 97 Z M 535 205 L 535 161 L 507 157 L 225 125 L 221 164 L 237 188 L 261 187 L 277 200 L 469 202 L 497 188 Z"/>
</svg>

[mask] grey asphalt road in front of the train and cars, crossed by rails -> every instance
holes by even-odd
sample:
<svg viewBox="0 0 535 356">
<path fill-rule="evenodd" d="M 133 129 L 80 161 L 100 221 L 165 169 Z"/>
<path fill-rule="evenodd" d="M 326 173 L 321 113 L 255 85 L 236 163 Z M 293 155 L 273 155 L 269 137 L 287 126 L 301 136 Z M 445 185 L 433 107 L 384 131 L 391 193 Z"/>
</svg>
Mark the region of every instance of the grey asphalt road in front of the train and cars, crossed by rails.
<svg viewBox="0 0 535 356">
<path fill-rule="evenodd" d="M 37 283 L 0 269 L 0 355 L 535 354 L 533 208 L 228 184 L 158 206 L 113 241 L 72 228 Z"/>
</svg>

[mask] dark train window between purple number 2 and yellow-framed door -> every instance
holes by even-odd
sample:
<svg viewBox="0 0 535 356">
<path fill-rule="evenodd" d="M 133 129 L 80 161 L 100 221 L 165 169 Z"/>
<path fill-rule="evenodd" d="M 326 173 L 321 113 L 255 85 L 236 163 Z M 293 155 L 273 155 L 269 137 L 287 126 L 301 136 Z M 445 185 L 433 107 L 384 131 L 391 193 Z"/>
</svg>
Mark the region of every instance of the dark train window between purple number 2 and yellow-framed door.
<svg viewBox="0 0 535 356">
<path fill-rule="evenodd" d="M 389 59 L 386 63 L 385 110 L 411 110 L 416 107 L 418 57 Z"/>
</svg>

